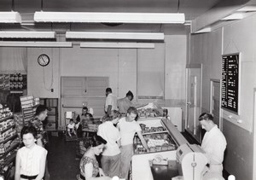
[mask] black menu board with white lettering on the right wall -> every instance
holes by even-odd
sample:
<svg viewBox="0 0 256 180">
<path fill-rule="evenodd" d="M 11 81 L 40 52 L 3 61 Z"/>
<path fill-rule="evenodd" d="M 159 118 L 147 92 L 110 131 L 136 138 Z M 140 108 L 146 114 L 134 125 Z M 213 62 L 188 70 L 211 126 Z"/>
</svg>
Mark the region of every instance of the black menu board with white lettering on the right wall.
<svg viewBox="0 0 256 180">
<path fill-rule="evenodd" d="M 239 54 L 222 55 L 221 107 L 238 114 Z"/>
</svg>

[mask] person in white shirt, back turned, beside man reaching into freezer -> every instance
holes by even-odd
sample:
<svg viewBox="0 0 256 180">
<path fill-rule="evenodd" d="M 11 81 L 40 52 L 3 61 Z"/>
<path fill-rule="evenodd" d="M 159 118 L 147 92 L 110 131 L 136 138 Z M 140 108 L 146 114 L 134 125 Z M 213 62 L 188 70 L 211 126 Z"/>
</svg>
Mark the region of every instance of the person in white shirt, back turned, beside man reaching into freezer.
<svg viewBox="0 0 256 180">
<path fill-rule="evenodd" d="M 113 110 L 111 111 L 107 121 L 99 125 L 97 135 L 102 136 L 107 141 L 102 152 L 102 170 L 108 177 L 119 177 L 120 168 L 120 134 L 119 130 L 114 126 L 119 122 L 121 114 Z"/>
</svg>

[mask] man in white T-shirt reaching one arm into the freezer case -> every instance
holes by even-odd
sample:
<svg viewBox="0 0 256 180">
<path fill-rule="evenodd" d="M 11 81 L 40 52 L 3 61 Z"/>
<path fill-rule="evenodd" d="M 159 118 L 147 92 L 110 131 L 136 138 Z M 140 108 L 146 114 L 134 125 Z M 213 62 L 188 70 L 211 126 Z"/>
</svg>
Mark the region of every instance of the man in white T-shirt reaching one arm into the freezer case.
<svg viewBox="0 0 256 180">
<path fill-rule="evenodd" d="M 129 107 L 127 116 L 119 119 L 119 132 L 121 135 L 121 167 L 120 177 L 128 179 L 129 167 L 131 164 L 131 157 L 133 155 L 133 137 L 135 133 L 140 138 L 143 147 L 148 151 L 148 145 L 145 141 L 141 126 L 135 120 L 137 118 L 137 109 Z"/>
</svg>

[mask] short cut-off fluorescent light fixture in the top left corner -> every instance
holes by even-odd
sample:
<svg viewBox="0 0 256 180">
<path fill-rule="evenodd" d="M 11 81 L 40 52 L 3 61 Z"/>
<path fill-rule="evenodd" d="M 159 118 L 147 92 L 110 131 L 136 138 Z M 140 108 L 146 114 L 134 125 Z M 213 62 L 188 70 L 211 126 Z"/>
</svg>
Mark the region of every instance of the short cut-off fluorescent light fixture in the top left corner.
<svg viewBox="0 0 256 180">
<path fill-rule="evenodd" d="M 14 11 L 0 12 L 0 23 L 21 23 L 20 13 Z"/>
</svg>

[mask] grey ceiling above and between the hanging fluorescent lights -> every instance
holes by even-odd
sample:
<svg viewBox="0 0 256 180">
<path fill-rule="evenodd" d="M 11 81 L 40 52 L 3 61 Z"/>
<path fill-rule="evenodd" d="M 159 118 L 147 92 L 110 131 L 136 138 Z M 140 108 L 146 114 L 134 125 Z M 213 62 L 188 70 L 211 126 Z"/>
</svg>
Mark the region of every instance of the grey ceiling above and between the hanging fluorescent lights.
<svg viewBox="0 0 256 180">
<path fill-rule="evenodd" d="M 238 0 L 236 0 L 238 1 Z M 240 0 L 241 1 L 241 0 Z M 183 25 L 101 23 L 34 23 L 35 11 L 62 12 L 125 12 L 125 13 L 184 13 L 185 20 L 195 20 L 221 0 L 0 0 L 0 11 L 18 11 L 21 25 L 0 24 L 0 31 L 119 31 L 165 32 Z M 114 24 L 113 24 L 114 25 Z M 183 28 L 184 29 L 184 28 Z M 177 30 L 179 31 L 179 30 Z"/>
</svg>

